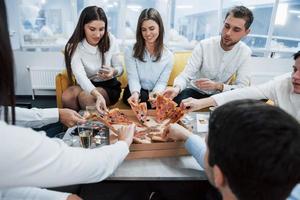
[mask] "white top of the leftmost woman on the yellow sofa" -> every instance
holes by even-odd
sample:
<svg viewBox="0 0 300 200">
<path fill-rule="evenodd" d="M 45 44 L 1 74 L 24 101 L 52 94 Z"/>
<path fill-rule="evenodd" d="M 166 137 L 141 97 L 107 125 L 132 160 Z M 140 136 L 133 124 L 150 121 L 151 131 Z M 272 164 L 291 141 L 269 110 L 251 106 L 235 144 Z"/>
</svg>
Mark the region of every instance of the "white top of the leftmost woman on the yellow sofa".
<svg viewBox="0 0 300 200">
<path fill-rule="evenodd" d="M 117 39 L 109 34 L 110 48 L 104 53 L 105 65 L 111 66 L 118 71 L 117 76 L 123 73 L 123 66 L 120 58 L 120 49 Z M 98 46 L 90 45 L 86 39 L 83 39 L 74 52 L 71 60 L 71 68 L 80 87 L 91 92 L 95 86 L 91 83 L 90 78 L 96 75 L 102 67 L 102 56 Z M 90 77 L 90 78 L 89 78 Z M 99 78 L 95 81 L 100 81 Z"/>
</svg>

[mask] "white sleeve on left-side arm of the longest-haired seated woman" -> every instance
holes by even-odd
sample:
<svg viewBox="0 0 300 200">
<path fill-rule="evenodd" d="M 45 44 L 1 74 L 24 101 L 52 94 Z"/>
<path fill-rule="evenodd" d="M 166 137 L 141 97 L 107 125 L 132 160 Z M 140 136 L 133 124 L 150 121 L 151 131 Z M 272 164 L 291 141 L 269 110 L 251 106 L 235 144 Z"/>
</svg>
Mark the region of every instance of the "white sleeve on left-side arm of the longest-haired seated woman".
<svg viewBox="0 0 300 200">
<path fill-rule="evenodd" d="M 84 70 L 84 66 L 82 64 L 80 55 L 77 50 L 75 51 L 72 57 L 71 68 L 78 85 L 80 85 L 80 87 L 84 91 L 87 91 L 90 94 L 91 91 L 94 90 L 96 87 L 92 84 L 91 80 L 88 78 Z"/>
</svg>

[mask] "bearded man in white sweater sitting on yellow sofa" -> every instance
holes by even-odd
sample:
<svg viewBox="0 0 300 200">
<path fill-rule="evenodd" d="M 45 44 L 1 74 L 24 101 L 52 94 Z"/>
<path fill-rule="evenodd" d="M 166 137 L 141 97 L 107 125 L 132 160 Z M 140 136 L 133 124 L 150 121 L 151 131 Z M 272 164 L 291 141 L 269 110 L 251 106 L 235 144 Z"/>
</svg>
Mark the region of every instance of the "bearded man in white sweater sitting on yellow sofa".
<svg viewBox="0 0 300 200">
<path fill-rule="evenodd" d="M 252 22 L 253 14 L 244 6 L 228 11 L 221 36 L 200 41 L 183 72 L 175 78 L 174 86 L 163 94 L 179 104 L 188 97 L 200 99 L 248 86 L 252 52 L 240 40 L 250 32 Z M 234 76 L 236 80 L 229 85 Z"/>
</svg>

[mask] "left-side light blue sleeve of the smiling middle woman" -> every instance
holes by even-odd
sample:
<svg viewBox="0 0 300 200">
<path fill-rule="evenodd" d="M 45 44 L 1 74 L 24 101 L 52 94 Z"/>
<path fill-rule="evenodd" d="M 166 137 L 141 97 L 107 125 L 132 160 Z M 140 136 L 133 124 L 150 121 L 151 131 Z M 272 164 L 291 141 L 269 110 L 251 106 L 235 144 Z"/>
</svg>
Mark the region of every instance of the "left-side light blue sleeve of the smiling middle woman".
<svg viewBox="0 0 300 200">
<path fill-rule="evenodd" d="M 131 94 L 133 92 L 140 93 L 141 84 L 137 72 L 136 59 L 132 56 L 132 48 L 125 50 L 125 66 L 127 72 L 127 80 Z"/>
</svg>

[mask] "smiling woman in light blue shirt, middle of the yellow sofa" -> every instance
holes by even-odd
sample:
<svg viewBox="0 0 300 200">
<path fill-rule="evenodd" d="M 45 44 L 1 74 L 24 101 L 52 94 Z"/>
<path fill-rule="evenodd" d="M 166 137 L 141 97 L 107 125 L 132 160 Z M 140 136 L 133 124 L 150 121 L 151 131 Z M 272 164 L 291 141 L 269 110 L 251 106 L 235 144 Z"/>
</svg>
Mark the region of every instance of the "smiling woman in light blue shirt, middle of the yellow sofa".
<svg viewBox="0 0 300 200">
<path fill-rule="evenodd" d="M 128 86 L 123 101 L 126 104 L 128 100 L 147 102 L 149 96 L 162 92 L 173 67 L 173 54 L 163 43 L 164 26 L 157 10 L 143 10 L 136 31 L 136 43 L 125 51 Z"/>
</svg>

